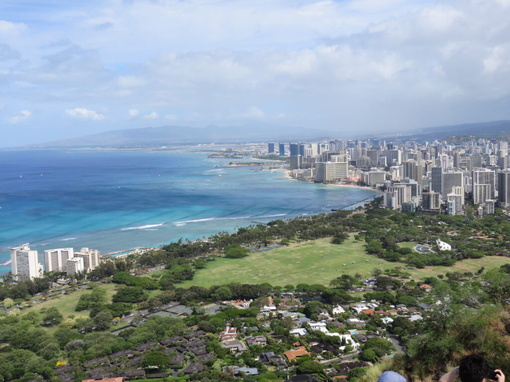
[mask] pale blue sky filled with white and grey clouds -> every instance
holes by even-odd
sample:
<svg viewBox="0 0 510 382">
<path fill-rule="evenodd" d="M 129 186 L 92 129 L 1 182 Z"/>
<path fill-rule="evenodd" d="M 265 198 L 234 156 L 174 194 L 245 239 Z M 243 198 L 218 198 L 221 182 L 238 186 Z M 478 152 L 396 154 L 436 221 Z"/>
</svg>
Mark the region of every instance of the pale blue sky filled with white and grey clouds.
<svg viewBox="0 0 510 382">
<path fill-rule="evenodd" d="M 510 119 L 510 0 L 2 0 L 0 147 Z"/>
</svg>

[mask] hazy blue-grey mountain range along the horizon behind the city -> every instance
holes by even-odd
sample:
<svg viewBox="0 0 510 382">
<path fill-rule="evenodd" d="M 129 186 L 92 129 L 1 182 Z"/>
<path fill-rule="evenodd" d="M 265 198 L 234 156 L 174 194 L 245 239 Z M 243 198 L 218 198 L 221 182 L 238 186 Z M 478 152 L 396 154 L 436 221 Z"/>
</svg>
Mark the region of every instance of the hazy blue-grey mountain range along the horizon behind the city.
<svg viewBox="0 0 510 382">
<path fill-rule="evenodd" d="M 146 147 L 176 144 L 236 143 L 256 141 L 309 141 L 324 138 L 361 138 L 352 131 L 333 131 L 327 129 L 308 129 L 292 126 L 273 126 L 268 124 L 243 126 L 209 126 L 205 128 L 186 126 L 143 127 L 136 129 L 110 130 L 83 137 L 26 145 L 28 148 L 78 148 L 78 147 Z M 377 137 L 377 134 L 370 134 Z M 388 135 L 387 140 L 394 141 L 433 141 L 460 135 L 503 136 L 510 135 L 510 121 L 492 121 L 466 123 L 461 125 L 436 126 L 417 129 L 410 134 Z M 366 136 L 366 135 L 365 135 Z"/>
</svg>

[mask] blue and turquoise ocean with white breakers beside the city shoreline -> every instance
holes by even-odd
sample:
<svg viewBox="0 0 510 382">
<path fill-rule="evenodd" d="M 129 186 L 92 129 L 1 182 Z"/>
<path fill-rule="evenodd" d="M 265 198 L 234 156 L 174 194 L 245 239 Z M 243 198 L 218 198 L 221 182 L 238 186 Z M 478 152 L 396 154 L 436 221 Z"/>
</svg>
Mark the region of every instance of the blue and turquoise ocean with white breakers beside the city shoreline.
<svg viewBox="0 0 510 382">
<path fill-rule="evenodd" d="M 108 253 L 194 240 L 375 195 L 257 167 L 214 167 L 228 161 L 173 150 L 0 151 L 0 274 L 10 270 L 9 248 L 23 243 L 43 262 L 47 249 Z"/>
</svg>

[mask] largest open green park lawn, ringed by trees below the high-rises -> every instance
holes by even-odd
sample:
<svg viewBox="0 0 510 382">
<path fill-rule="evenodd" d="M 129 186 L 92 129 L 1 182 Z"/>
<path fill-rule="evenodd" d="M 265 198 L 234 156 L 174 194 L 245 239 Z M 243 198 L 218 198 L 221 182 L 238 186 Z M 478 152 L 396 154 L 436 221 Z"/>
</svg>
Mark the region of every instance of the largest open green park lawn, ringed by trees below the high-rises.
<svg viewBox="0 0 510 382">
<path fill-rule="evenodd" d="M 400 243 L 413 248 L 416 243 Z M 369 260 L 369 261 L 366 261 Z M 354 261 L 354 263 L 352 263 Z M 413 279 L 423 280 L 429 276 L 455 270 L 475 272 L 482 266 L 487 270 L 510 263 L 510 259 L 500 256 L 486 256 L 482 259 L 469 259 L 453 266 L 435 266 L 423 269 L 406 269 Z M 343 265 L 346 264 L 346 265 Z M 208 267 L 196 272 L 193 280 L 179 286 L 189 287 L 240 282 L 248 284 L 270 283 L 273 286 L 299 283 L 323 284 L 341 276 L 356 272 L 362 277 L 370 277 L 374 268 L 391 269 L 396 266 L 405 268 L 407 264 L 389 262 L 368 255 L 363 241 L 354 241 L 352 236 L 343 244 L 331 244 L 330 238 L 309 242 L 292 243 L 289 247 L 277 248 L 262 253 L 253 253 L 243 259 L 219 258 L 208 263 Z"/>
</svg>

